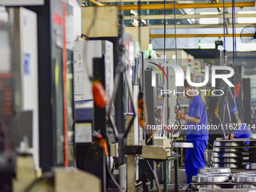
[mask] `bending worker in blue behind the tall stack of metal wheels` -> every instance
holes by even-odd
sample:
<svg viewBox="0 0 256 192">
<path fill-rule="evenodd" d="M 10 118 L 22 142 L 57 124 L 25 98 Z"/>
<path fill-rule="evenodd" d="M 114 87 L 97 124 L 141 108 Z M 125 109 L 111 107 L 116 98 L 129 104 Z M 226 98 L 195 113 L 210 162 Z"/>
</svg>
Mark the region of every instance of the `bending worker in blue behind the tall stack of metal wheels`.
<svg viewBox="0 0 256 192">
<path fill-rule="evenodd" d="M 250 139 L 251 136 L 251 130 L 246 126 L 245 123 L 242 123 L 241 118 L 239 117 L 238 122 L 236 123 L 236 118 L 232 116 L 232 123 L 233 123 L 233 129 L 236 129 L 233 133 L 226 136 L 228 139 L 231 138 L 239 138 L 239 139 Z M 249 145 L 250 142 L 245 142 L 245 144 Z"/>
</svg>

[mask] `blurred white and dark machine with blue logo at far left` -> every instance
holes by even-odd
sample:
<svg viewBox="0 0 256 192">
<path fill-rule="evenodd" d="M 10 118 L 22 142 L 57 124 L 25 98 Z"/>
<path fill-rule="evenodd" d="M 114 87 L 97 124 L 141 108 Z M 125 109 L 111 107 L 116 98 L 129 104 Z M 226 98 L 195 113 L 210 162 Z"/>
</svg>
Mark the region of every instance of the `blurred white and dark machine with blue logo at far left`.
<svg viewBox="0 0 256 192">
<path fill-rule="evenodd" d="M 34 172 L 39 168 L 37 16 L 26 8 L 1 15 L 0 190 L 12 191 L 17 154 L 31 154 Z"/>
</svg>

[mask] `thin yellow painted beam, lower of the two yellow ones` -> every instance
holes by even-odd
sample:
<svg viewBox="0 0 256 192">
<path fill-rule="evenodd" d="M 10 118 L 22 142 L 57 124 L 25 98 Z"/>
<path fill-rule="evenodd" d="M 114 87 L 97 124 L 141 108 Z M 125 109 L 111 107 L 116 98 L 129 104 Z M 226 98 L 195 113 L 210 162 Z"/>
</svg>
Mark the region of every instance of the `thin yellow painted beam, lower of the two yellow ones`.
<svg viewBox="0 0 256 192">
<path fill-rule="evenodd" d="M 242 37 L 253 37 L 254 34 L 242 34 Z M 232 34 L 226 34 L 226 38 L 232 38 Z M 240 34 L 236 34 L 239 37 Z M 177 38 L 222 38 L 223 34 L 177 34 Z M 149 38 L 164 38 L 163 34 L 151 34 Z M 167 34 L 166 38 L 175 38 L 174 34 Z"/>
</svg>

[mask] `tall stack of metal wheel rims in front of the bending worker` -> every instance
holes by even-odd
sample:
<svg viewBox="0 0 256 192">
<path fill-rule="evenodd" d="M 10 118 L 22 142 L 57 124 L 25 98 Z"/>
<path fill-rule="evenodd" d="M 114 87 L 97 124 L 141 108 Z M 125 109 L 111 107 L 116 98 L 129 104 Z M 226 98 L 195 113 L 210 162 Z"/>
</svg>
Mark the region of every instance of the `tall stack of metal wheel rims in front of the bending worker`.
<svg viewBox="0 0 256 192">
<path fill-rule="evenodd" d="M 212 150 L 212 167 L 242 168 L 248 160 L 249 151 L 246 149 L 244 140 L 215 140 Z"/>
</svg>

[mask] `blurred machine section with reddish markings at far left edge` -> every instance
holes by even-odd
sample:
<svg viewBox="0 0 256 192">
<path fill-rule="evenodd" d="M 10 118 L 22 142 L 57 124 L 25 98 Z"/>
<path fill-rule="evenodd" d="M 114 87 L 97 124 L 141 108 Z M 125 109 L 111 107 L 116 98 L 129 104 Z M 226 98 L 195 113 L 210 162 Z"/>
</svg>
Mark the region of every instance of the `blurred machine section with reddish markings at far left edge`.
<svg viewBox="0 0 256 192">
<path fill-rule="evenodd" d="M 1 158 L 4 160 L 1 163 L 0 169 L 0 190 L 11 191 L 12 190 L 12 178 L 14 178 L 14 161 L 12 159 L 6 159 L 5 153 L 10 153 L 12 156 L 11 143 L 6 143 L 6 136 L 9 137 L 11 131 L 11 123 L 14 119 L 14 62 L 12 59 L 12 47 L 13 42 L 11 33 L 11 22 L 0 22 L 1 38 L 0 44 L 5 51 L 0 52 L 0 58 L 2 64 L 0 65 L 0 151 Z M 5 47 L 4 47 L 5 46 Z M 5 133 L 8 133 L 4 136 Z M 11 157 L 12 158 L 12 157 Z M 6 160 L 5 160 L 6 159 Z M 6 187 L 10 190 L 5 190 Z"/>
</svg>

